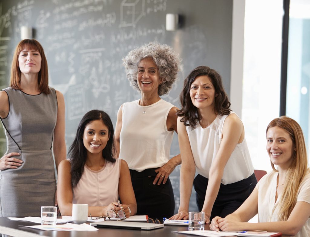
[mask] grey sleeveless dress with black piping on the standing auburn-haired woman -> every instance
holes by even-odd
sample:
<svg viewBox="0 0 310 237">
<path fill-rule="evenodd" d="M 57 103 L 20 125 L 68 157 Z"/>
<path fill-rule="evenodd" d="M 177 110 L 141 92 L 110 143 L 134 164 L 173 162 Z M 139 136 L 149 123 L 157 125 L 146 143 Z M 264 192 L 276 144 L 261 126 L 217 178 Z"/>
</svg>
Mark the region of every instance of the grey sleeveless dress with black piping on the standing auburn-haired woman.
<svg viewBox="0 0 310 237">
<path fill-rule="evenodd" d="M 50 94 L 28 95 L 8 87 L 10 111 L 1 119 L 7 152 L 18 152 L 24 163 L 0 172 L 0 216 L 40 216 L 41 206 L 55 205 L 55 171 L 52 156 L 57 119 L 55 89 Z"/>
</svg>

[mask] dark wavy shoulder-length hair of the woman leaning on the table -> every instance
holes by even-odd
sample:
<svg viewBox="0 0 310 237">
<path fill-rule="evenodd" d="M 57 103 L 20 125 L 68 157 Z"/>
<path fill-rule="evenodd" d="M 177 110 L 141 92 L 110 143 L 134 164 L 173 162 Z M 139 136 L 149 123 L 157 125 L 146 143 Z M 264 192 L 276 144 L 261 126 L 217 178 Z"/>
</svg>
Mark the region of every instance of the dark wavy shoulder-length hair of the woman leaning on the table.
<svg viewBox="0 0 310 237">
<path fill-rule="evenodd" d="M 189 91 L 194 80 L 199 76 L 208 76 L 215 89 L 214 112 L 219 115 L 230 114 L 231 109 L 228 96 L 224 90 L 222 78 L 214 69 L 207 66 L 199 66 L 193 69 L 187 78 L 184 80 L 183 90 L 180 94 L 181 110 L 178 110 L 177 115 L 183 117 L 181 122 L 185 126 L 195 127 L 197 122 L 201 119 L 197 107 L 193 105 Z"/>
</svg>

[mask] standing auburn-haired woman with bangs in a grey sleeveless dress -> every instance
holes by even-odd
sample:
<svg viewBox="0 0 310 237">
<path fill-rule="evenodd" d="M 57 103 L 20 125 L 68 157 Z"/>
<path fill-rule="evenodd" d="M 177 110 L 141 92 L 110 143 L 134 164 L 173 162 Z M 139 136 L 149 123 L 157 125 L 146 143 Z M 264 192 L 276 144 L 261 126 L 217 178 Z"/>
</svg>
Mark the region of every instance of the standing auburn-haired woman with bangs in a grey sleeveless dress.
<svg viewBox="0 0 310 237">
<path fill-rule="evenodd" d="M 40 216 L 41 206 L 55 205 L 54 166 L 66 158 L 64 114 L 64 96 L 48 86 L 41 44 L 22 40 L 13 56 L 10 87 L 0 91 L 7 136 L 0 159 L 0 216 Z"/>
</svg>

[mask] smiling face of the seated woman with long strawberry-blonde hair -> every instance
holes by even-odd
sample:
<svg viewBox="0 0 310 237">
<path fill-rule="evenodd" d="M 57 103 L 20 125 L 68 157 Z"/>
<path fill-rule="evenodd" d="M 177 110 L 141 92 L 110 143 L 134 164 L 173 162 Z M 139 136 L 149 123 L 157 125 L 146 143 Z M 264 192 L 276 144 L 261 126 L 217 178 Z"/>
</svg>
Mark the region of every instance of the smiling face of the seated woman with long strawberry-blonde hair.
<svg viewBox="0 0 310 237">
<path fill-rule="evenodd" d="M 280 127 L 270 127 L 267 131 L 268 155 L 271 162 L 282 169 L 287 169 L 292 163 L 295 145 L 286 130 Z"/>
</svg>

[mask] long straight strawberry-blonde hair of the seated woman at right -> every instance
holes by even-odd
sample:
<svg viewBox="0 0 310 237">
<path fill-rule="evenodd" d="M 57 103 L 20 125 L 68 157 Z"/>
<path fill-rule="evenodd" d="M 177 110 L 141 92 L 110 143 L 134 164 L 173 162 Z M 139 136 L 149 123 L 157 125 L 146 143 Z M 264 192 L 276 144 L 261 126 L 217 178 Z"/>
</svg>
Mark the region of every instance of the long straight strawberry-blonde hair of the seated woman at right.
<svg viewBox="0 0 310 237">
<path fill-rule="evenodd" d="M 286 116 L 273 119 L 267 126 L 266 134 L 270 127 L 280 127 L 284 129 L 290 134 L 290 138 L 295 145 L 294 154 L 292 155 L 293 160 L 286 173 L 284 191 L 279 202 L 281 208 L 278 219 L 279 221 L 286 221 L 296 204 L 300 183 L 307 173 L 307 150 L 303 137 L 303 131 L 294 119 Z M 271 166 L 275 172 L 278 172 L 273 163 L 271 163 Z"/>
</svg>

